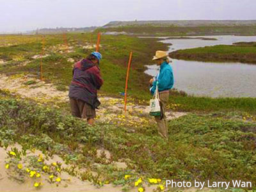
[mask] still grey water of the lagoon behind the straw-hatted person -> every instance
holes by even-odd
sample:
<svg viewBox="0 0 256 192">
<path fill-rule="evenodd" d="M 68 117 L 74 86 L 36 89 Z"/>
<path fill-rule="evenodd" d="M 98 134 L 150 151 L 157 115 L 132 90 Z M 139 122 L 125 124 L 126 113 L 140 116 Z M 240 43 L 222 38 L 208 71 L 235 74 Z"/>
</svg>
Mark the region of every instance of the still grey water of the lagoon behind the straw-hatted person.
<svg viewBox="0 0 256 192">
<path fill-rule="evenodd" d="M 193 36 L 191 36 L 193 37 Z M 169 52 L 234 42 L 256 42 L 256 36 L 204 36 L 218 40 L 170 39 Z M 172 60 L 174 88 L 189 95 L 208 97 L 256 97 L 256 65 Z M 147 65 L 145 73 L 156 76 L 158 67 Z"/>
</svg>

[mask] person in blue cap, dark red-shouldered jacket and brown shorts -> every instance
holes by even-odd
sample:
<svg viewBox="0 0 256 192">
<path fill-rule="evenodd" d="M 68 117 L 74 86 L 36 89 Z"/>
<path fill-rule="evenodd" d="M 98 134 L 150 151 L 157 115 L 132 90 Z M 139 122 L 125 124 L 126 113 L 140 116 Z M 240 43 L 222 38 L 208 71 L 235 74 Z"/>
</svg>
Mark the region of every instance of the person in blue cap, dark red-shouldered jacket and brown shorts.
<svg viewBox="0 0 256 192">
<path fill-rule="evenodd" d="M 100 105 L 97 97 L 97 90 L 103 84 L 100 60 L 102 55 L 99 52 L 92 52 L 86 59 L 75 63 L 68 93 L 72 115 L 86 119 L 90 125 L 93 125 L 95 109 Z"/>
</svg>

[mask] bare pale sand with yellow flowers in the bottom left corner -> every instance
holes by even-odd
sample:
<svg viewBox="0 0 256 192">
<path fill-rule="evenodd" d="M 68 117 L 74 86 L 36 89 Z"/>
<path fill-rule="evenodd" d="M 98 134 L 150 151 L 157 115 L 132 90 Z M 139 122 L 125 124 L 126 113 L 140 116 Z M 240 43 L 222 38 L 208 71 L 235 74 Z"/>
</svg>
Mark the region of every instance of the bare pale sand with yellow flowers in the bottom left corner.
<svg viewBox="0 0 256 192">
<path fill-rule="evenodd" d="M 14 145 L 12 147 L 17 147 L 20 149 L 20 145 Z M 10 150 L 11 147 L 8 147 L 7 150 Z M 39 150 L 35 150 L 35 152 L 28 152 L 29 155 L 38 155 L 42 154 Z M 102 188 L 97 188 L 96 186 L 93 186 L 92 183 L 87 181 L 82 181 L 81 179 L 77 177 L 72 177 L 71 175 L 68 175 L 68 173 L 61 172 L 61 184 L 57 187 L 56 184 L 50 184 L 46 181 L 47 177 L 42 175 L 42 178 L 40 179 L 40 182 L 43 182 L 43 185 L 40 189 L 37 189 L 33 186 L 35 182 L 35 178 L 28 178 L 25 180 L 24 183 L 19 184 L 14 179 L 10 179 L 8 177 L 9 170 L 6 170 L 5 168 L 5 158 L 6 158 L 6 150 L 4 148 L 0 147 L 0 191 L 1 192 L 32 192 L 32 191 L 44 191 L 44 192 L 65 192 L 65 191 L 72 191 L 72 192 L 78 192 L 78 191 L 90 191 L 90 192 L 98 192 L 98 191 L 108 191 L 108 192 L 119 192 L 122 191 L 122 186 L 113 186 L 112 184 L 105 184 Z M 62 159 L 58 156 L 54 156 L 52 159 L 49 159 L 47 163 L 53 163 L 53 162 L 61 162 L 63 163 L 63 167 L 67 166 Z M 65 180 L 70 179 L 70 181 Z M 36 180 L 38 182 L 38 179 Z M 147 187 L 147 191 L 153 191 L 153 189 L 156 189 L 156 186 Z M 131 189 L 131 192 L 137 191 L 136 188 Z"/>
</svg>

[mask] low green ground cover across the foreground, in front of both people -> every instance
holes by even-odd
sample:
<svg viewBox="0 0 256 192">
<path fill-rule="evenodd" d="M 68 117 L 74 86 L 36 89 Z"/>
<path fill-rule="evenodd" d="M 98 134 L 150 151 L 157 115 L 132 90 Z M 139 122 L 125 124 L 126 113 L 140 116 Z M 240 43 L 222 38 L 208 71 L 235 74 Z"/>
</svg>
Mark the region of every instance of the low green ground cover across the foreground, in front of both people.
<svg viewBox="0 0 256 192">
<path fill-rule="evenodd" d="M 1 145 L 18 142 L 24 149 L 38 148 L 47 156 L 58 154 L 66 163 L 89 170 L 83 178 L 96 184 L 108 180 L 132 186 L 134 182 L 124 179 L 125 174 L 131 174 L 132 178 L 162 180 L 244 179 L 255 186 L 256 124 L 248 117 L 243 120 L 239 113 L 191 114 L 172 120 L 166 142 L 152 125 L 91 127 L 58 109 L 3 93 L 0 104 Z M 104 156 L 95 155 L 100 146 L 111 152 L 109 163 Z M 126 172 L 119 170 L 117 174 L 118 170 L 111 168 L 111 162 L 118 159 L 127 163 Z M 96 180 L 86 176 L 90 172 L 98 173 Z"/>
</svg>

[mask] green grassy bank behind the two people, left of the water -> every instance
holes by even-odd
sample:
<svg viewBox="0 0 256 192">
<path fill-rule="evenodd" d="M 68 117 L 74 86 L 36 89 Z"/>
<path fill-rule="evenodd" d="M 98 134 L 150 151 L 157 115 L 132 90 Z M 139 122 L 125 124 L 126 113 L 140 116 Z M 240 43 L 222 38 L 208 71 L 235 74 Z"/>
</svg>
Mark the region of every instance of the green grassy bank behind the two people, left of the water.
<svg viewBox="0 0 256 192">
<path fill-rule="evenodd" d="M 52 42 L 52 38 L 55 40 Z M 67 47 L 62 45 L 62 35 L 47 35 L 45 36 L 45 54 L 49 56 L 43 58 L 43 71 L 45 81 L 52 81 L 57 86 L 65 88 L 70 84 L 72 78 L 72 64 L 68 58 L 79 61 L 86 57 L 93 49 L 84 49 L 84 46 L 90 45 L 90 42 L 96 42 L 96 35 L 93 34 L 68 34 L 68 45 L 72 46 L 68 52 Z M 100 52 L 103 55 L 103 60 L 100 63 L 100 70 L 104 78 L 104 86 L 101 93 L 108 95 L 118 95 L 119 92 L 124 92 L 125 74 L 127 70 L 127 63 L 129 60 L 130 51 L 132 54 L 131 75 L 129 83 L 129 94 L 141 94 L 148 91 L 147 83 L 150 76 L 143 74 L 145 71 L 144 65 L 151 62 L 152 55 L 157 49 L 168 49 L 167 45 L 156 42 L 156 40 L 140 39 L 127 36 L 102 36 L 100 42 L 102 48 Z M 62 52 L 60 50 L 61 49 Z M 20 49 L 24 50 L 23 52 Z M 68 49 L 68 48 L 67 48 Z M 14 45 L 11 47 L 0 47 L 0 53 L 3 56 L 16 54 L 22 61 L 29 61 L 28 65 L 19 65 L 16 61 L 9 61 L 3 66 L 0 66 L 0 72 L 6 74 L 27 73 L 38 76 L 40 72 L 40 57 L 33 60 L 31 56 L 40 54 L 42 48 L 40 43 L 29 43 Z M 9 59 L 10 60 L 10 59 Z M 138 96 L 139 97 L 139 96 Z M 146 96 L 145 99 L 149 97 Z"/>
</svg>

